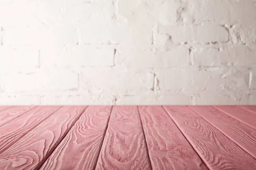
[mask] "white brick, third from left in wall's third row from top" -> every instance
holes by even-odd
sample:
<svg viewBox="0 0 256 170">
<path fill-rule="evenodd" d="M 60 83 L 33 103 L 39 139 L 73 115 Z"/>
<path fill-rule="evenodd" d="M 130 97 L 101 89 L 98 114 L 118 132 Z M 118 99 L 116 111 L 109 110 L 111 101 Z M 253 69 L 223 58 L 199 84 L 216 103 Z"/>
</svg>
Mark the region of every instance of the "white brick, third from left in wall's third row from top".
<svg viewBox="0 0 256 170">
<path fill-rule="evenodd" d="M 175 46 L 167 50 L 117 48 L 115 60 L 117 65 L 131 70 L 186 67 L 189 65 L 189 48 L 184 46 Z"/>
</svg>

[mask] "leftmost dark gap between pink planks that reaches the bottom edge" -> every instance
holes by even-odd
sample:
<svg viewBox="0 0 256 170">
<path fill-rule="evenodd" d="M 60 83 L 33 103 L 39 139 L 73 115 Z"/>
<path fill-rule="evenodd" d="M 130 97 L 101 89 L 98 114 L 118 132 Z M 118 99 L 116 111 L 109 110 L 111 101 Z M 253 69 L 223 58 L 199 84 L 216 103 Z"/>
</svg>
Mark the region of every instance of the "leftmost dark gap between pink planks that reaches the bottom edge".
<svg viewBox="0 0 256 170">
<path fill-rule="evenodd" d="M 61 106 L 63 107 L 63 106 Z M 78 121 L 78 119 L 81 117 L 81 115 L 84 113 L 84 111 L 88 108 L 88 106 L 86 108 L 84 108 L 83 111 L 81 111 L 80 115 L 76 117 L 76 119 L 71 123 L 70 127 L 66 130 L 66 132 L 61 136 L 60 139 L 58 139 L 57 142 L 55 142 L 55 144 L 52 146 L 52 148 L 49 150 L 49 153 L 44 157 L 44 159 L 41 161 L 41 163 L 38 164 L 38 166 L 35 168 L 35 170 L 39 170 L 44 162 L 49 158 L 49 156 L 52 155 L 52 153 L 54 152 L 54 150 L 58 147 L 58 145 L 61 143 L 61 141 L 67 136 L 67 133 L 69 133 L 70 129 L 76 124 L 76 122 Z"/>
</svg>

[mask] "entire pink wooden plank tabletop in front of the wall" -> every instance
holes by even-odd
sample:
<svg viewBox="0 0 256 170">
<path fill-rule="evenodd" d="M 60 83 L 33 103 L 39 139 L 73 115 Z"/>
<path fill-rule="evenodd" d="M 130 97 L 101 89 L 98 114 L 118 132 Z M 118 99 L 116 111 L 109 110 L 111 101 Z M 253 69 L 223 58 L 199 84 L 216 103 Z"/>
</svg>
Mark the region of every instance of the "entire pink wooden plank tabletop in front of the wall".
<svg viewBox="0 0 256 170">
<path fill-rule="evenodd" d="M 255 170 L 256 106 L 0 106 L 0 170 Z"/>
</svg>

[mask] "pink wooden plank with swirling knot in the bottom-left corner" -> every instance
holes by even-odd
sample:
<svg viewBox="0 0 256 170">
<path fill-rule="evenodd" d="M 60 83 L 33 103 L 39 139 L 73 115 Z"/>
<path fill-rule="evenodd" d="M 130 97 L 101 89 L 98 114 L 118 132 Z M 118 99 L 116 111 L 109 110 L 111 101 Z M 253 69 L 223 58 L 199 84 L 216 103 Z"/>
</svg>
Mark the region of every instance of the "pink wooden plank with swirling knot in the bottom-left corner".
<svg viewBox="0 0 256 170">
<path fill-rule="evenodd" d="M 0 154 L 0 169 L 38 169 L 83 113 L 84 106 L 64 106 Z"/>
</svg>

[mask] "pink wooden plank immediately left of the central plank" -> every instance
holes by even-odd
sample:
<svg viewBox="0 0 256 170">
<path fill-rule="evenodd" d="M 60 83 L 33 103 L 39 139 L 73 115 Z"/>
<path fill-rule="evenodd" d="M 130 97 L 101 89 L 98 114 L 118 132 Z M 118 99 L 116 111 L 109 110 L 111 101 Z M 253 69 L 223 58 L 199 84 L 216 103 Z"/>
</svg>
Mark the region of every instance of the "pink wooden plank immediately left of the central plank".
<svg viewBox="0 0 256 170">
<path fill-rule="evenodd" d="M 93 170 L 103 142 L 111 106 L 89 106 L 41 170 Z"/>
</svg>

